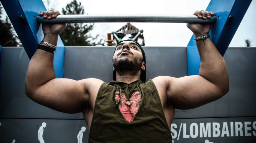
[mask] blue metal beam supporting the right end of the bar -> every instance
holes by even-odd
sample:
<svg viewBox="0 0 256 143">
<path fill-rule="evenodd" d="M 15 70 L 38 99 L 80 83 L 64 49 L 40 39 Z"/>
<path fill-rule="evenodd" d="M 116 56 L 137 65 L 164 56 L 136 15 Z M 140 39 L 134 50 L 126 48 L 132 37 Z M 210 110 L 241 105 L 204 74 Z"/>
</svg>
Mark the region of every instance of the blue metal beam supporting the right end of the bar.
<svg viewBox="0 0 256 143">
<path fill-rule="evenodd" d="M 223 56 L 252 0 L 211 0 L 206 11 L 217 16 L 211 25 L 209 35 L 213 44 Z M 231 16 L 231 17 L 230 17 Z M 200 56 L 192 35 L 187 46 L 188 75 L 198 75 Z"/>
</svg>

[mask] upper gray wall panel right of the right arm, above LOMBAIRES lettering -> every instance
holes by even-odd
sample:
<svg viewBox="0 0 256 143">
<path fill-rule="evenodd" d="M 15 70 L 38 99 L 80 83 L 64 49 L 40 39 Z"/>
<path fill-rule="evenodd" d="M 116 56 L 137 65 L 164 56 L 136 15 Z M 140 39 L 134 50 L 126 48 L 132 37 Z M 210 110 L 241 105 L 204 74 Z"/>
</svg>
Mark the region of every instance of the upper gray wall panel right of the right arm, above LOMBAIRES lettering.
<svg viewBox="0 0 256 143">
<path fill-rule="evenodd" d="M 225 96 L 228 96 L 227 108 L 232 116 L 256 116 L 255 55 L 256 48 L 229 48 L 224 55 L 230 84 L 230 91 Z"/>
</svg>

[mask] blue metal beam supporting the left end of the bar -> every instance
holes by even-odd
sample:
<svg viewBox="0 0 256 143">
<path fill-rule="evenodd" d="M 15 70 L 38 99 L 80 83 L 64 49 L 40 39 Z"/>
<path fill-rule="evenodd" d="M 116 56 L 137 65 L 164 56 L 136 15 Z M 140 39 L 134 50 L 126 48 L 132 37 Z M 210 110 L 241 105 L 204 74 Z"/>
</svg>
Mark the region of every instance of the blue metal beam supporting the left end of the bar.
<svg viewBox="0 0 256 143">
<path fill-rule="evenodd" d="M 1 0 L 1 3 L 31 59 L 44 37 L 42 24 L 38 24 L 36 20 L 40 12 L 46 11 L 44 3 L 42 0 Z M 53 61 L 56 78 L 64 77 L 64 50 L 59 37 Z"/>
</svg>

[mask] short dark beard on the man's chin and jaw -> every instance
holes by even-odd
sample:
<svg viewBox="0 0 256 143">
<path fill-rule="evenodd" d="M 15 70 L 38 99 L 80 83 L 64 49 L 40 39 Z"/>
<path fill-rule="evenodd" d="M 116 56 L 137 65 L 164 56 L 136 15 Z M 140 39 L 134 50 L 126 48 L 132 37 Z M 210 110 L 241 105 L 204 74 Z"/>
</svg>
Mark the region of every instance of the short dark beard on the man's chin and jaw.
<svg viewBox="0 0 256 143">
<path fill-rule="evenodd" d="M 134 61 L 126 59 L 120 59 L 119 61 L 116 58 L 113 59 L 113 66 L 119 75 L 125 74 L 126 72 L 138 72 L 141 69 L 143 59 L 135 57 Z"/>
</svg>

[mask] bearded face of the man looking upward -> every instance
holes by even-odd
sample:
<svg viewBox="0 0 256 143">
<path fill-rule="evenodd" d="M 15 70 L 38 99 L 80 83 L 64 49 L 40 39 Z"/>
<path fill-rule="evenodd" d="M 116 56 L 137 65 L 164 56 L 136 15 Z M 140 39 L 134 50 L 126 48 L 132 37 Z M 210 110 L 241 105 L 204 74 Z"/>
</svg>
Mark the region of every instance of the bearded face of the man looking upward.
<svg viewBox="0 0 256 143">
<path fill-rule="evenodd" d="M 139 45 L 133 41 L 118 44 L 113 55 L 113 66 L 116 71 L 140 70 L 143 55 Z"/>
</svg>

